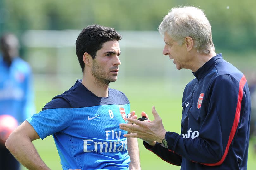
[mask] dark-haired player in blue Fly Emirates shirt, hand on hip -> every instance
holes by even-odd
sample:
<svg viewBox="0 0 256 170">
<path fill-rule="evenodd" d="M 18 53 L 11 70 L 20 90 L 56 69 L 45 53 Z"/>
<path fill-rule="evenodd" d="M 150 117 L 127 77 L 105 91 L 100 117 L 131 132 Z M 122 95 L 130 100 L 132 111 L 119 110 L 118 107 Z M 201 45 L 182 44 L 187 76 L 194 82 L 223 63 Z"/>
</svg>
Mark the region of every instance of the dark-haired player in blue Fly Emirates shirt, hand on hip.
<svg viewBox="0 0 256 170">
<path fill-rule="evenodd" d="M 117 79 L 119 40 L 113 28 L 91 25 L 76 40 L 83 79 L 55 96 L 41 112 L 28 118 L 6 141 L 6 147 L 28 169 L 49 169 L 31 141 L 53 135 L 67 169 L 140 169 L 137 139 L 123 137 L 130 103 L 109 88 Z M 135 118 L 134 112 L 130 117 Z M 128 155 L 129 153 L 129 155 Z"/>
</svg>

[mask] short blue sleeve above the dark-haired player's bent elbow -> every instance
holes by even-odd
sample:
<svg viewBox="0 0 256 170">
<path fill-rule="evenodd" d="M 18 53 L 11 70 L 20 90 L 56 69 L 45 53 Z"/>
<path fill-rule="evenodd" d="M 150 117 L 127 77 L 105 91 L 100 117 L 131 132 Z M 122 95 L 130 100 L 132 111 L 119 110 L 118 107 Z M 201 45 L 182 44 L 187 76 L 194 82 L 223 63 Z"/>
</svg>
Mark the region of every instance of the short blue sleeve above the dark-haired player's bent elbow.
<svg viewBox="0 0 256 170">
<path fill-rule="evenodd" d="M 64 132 L 72 122 L 73 108 L 58 108 L 52 103 L 58 103 L 60 106 L 70 105 L 63 98 L 56 98 L 47 103 L 43 111 L 26 119 L 41 139 L 53 133 Z"/>
</svg>

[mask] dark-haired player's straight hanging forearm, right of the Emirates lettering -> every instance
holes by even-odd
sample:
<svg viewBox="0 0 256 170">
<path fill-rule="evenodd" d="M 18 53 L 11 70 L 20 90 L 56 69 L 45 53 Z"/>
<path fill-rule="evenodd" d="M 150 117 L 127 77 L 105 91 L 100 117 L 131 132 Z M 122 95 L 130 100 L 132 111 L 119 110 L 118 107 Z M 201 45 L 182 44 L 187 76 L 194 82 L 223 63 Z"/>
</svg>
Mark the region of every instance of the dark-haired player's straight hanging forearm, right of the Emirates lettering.
<svg viewBox="0 0 256 170">
<path fill-rule="evenodd" d="M 127 138 L 127 150 L 130 155 L 130 170 L 140 170 L 140 153 L 137 138 Z"/>
</svg>

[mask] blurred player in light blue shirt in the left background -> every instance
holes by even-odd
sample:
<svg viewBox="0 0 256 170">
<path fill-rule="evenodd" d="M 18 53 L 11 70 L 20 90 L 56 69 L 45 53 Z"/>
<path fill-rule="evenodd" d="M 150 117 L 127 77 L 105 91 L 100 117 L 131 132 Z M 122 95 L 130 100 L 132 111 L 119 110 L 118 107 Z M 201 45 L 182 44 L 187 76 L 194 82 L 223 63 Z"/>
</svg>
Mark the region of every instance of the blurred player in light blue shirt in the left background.
<svg viewBox="0 0 256 170">
<path fill-rule="evenodd" d="M 31 69 L 19 57 L 20 44 L 15 35 L 7 33 L 1 36 L 0 46 L 0 116 L 10 115 L 21 123 L 34 114 Z M 4 135 L 5 132 L 0 133 Z M 19 162 L 4 142 L 0 144 L 0 169 L 19 169 Z"/>
</svg>

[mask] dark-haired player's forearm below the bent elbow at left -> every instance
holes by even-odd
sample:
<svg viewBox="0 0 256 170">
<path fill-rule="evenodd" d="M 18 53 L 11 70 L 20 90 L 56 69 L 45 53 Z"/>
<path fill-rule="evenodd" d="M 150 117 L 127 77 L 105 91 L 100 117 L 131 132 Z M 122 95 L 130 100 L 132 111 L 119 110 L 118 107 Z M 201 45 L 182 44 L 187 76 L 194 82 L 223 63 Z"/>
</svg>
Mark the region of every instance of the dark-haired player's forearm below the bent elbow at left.
<svg viewBox="0 0 256 170">
<path fill-rule="evenodd" d="M 22 165 L 27 167 L 27 169 L 50 169 L 40 158 L 29 137 L 13 132 L 7 139 L 5 145 L 12 155 L 14 155 Z"/>
</svg>

